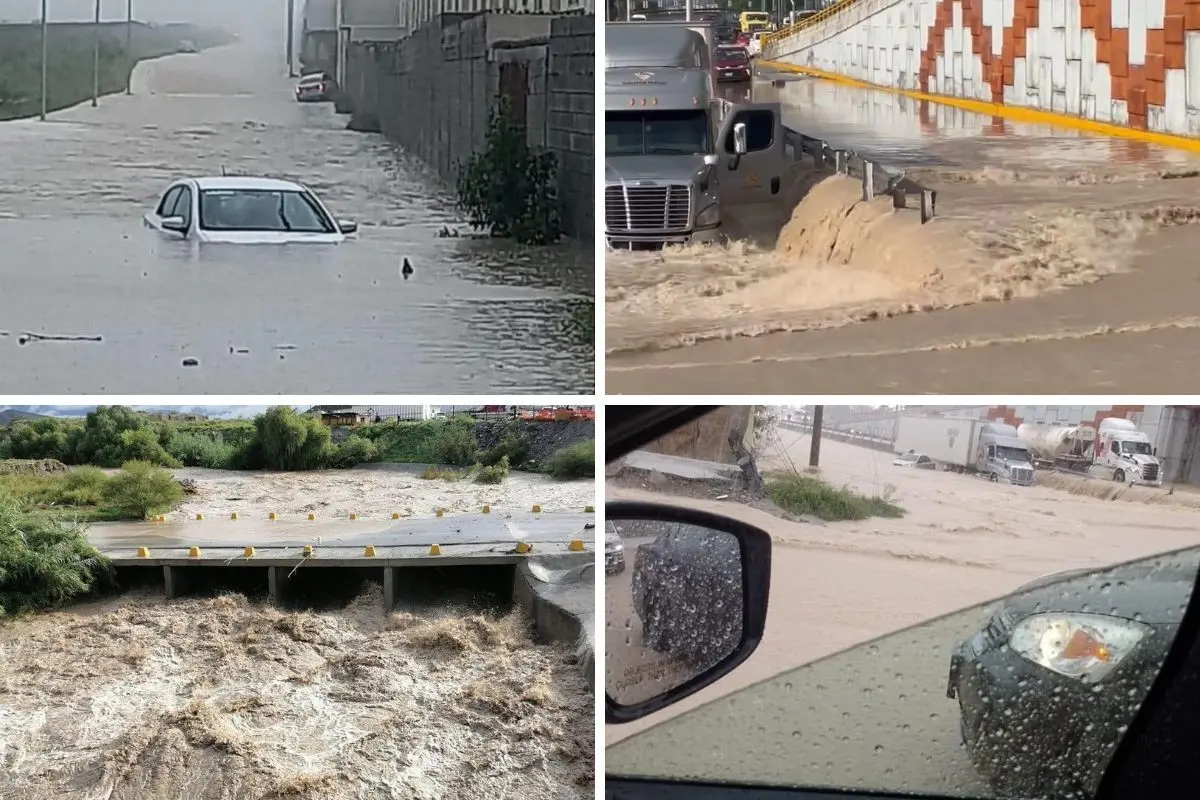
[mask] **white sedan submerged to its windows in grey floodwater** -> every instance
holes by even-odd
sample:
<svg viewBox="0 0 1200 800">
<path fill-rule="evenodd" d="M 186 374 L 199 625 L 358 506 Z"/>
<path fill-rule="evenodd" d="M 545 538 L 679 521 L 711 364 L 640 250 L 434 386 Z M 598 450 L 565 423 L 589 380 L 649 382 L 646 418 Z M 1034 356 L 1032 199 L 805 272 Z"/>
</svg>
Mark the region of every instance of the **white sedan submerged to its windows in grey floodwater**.
<svg viewBox="0 0 1200 800">
<path fill-rule="evenodd" d="M 359 229 L 300 184 L 270 178 L 186 178 L 144 219 L 169 239 L 232 245 L 337 243 Z"/>
</svg>

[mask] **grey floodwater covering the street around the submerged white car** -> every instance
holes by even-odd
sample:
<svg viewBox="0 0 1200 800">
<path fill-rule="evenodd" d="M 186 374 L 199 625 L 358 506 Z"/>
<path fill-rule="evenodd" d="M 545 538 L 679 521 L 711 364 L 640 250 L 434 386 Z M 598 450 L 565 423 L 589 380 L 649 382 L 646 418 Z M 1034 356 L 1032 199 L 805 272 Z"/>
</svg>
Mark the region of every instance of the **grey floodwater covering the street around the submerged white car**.
<svg viewBox="0 0 1200 800">
<path fill-rule="evenodd" d="M 5 385 L 593 391 L 593 350 L 571 324 L 593 294 L 590 248 L 470 236 L 431 172 L 292 86 L 281 58 L 233 46 L 143 62 L 133 95 L 98 108 L 0 124 Z M 197 246 L 143 227 L 170 181 L 222 170 L 302 182 L 359 237 Z"/>
</svg>

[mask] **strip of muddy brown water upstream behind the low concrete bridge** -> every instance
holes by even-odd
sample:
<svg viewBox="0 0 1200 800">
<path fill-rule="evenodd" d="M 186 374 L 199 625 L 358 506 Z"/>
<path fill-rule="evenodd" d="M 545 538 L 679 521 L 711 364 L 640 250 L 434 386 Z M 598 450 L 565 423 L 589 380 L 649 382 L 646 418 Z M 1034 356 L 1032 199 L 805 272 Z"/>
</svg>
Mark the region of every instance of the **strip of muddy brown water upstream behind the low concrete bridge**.
<svg viewBox="0 0 1200 800">
<path fill-rule="evenodd" d="M 425 480 L 421 468 L 408 464 L 370 464 L 355 469 L 312 473 L 235 473 L 215 469 L 179 469 L 176 480 L 196 481 L 196 492 L 167 515 L 192 519 L 241 513 L 281 517 L 314 513 L 320 519 L 364 517 L 432 517 L 448 512 L 479 511 L 485 504 L 497 513 L 528 511 L 535 503 L 546 511 L 582 511 L 595 504 L 594 481 L 554 481 L 545 475 L 510 473 L 498 485 L 470 480 Z"/>
</svg>

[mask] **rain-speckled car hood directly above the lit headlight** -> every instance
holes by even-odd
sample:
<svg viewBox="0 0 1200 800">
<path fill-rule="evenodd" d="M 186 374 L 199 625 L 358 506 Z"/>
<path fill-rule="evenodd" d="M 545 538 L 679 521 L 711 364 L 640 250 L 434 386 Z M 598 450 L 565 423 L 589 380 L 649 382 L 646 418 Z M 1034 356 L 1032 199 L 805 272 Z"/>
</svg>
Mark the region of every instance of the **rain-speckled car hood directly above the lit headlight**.
<svg viewBox="0 0 1200 800">
<path fill-rule="evenodd" d="M 1075 612 L 1177 625 L 1192 596 L 1198 567 L 1200 549 L 1192 549 L 1102 572 L 1070 570 L 1049 575 L 1002 601 L 996 619 L 1008 628 L 1032 614 Z"/>
</svg>

